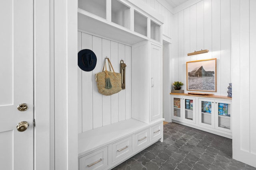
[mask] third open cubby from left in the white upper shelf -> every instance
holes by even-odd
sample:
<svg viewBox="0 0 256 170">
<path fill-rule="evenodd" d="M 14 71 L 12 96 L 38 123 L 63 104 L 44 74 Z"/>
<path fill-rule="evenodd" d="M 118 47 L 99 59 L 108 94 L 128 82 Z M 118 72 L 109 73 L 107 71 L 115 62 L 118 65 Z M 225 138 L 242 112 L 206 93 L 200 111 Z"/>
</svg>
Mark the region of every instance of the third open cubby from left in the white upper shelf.
<svg viewBox="0 0 256 170">
<path fill-rule="evenodd" d="M 134 10 L 134 31 L 142 35 L 148 35 L 148 19 Z"/>
</svg>

